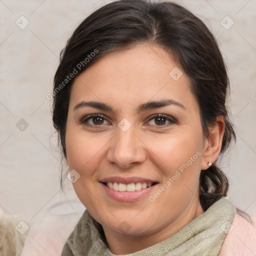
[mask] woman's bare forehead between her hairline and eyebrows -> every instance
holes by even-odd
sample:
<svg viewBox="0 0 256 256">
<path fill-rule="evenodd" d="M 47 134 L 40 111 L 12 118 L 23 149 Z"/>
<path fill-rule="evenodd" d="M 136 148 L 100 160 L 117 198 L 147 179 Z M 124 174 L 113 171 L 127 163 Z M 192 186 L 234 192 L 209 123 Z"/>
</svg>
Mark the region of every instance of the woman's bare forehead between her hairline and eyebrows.
<svg viewBox="0 0 256 256">
<path fill-rule="evenodd" d="M 140 44 L 113 51 L 79 74 L 72 85 L 70 104 L 86 99 L 136 107 L 166 97 L 196 103 L 179 63 L 158 46 Z"/>
</svg>

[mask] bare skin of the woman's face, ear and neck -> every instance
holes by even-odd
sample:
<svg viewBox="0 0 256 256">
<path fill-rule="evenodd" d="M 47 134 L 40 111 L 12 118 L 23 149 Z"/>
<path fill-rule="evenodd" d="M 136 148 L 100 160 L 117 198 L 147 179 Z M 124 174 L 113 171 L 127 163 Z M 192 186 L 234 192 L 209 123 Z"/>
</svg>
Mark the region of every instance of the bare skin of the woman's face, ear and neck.
<svg viewBox="0 0 256 256">
<path fill-rule="evenodd" d="M 178 80 L 169 75 L 174 67 L 183 72 Z M 189 84 L 188 76 L 169 54 L 159 46 L 145 44 L 107 54 L 74 80 L 66 124 L 67 162 L 69 169 L 80 175 L 73 183 L 77 196 L 101 223 L 114 254 L 156 244 L 203 213 L 199 174 L 201 169 L 207 171 L 209 161 L 216 160 L 224 124 L 218 117 L 209 136 L 204 137 Z M 178 101 L 184 108 L 171 104 L 136 110 L 149 100 L 162 99 Z M 83 100 L 104 102 L 114 112 L 88 106 L 73 110 Z M 94 126 L 81 122 L 94 113 L 105 119 L 100 124 L 95 118 L 87 120 Z M 159 124 L 153 114 L 166 114 L 176 122 L 163 119 Z M 118 126 L 123 118 L 131 124 L 127 131 Z M 149 201 L 196 152 L 198 157 L 189 167 L 158 198 Z M 109 197 L 99 182 L 109 176 L 143 177 L 158 184 L 138 200 L 123 202 Z M 126 225 L 126 230 L 120 225 Z"/>
</svg>

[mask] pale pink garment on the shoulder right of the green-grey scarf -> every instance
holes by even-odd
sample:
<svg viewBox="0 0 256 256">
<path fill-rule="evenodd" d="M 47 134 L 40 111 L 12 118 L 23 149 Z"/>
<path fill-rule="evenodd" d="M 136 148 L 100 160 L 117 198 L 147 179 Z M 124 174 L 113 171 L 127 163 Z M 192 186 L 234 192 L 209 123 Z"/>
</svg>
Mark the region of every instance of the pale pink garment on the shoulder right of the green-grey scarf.
<svg viewBox="0 0 256 256">
<path fill-rule="evenodd" d="M 237 212 L 234 215 L 219 256 L 255 256 L 256 229 Z"/>
</svg>

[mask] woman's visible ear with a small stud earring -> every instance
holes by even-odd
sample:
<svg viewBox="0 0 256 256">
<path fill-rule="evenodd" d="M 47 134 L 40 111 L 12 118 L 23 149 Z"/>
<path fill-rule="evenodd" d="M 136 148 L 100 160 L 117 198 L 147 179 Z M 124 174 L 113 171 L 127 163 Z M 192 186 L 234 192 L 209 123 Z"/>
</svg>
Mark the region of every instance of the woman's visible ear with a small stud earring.
<svg viewBox="0 0 256 256">
<path fill-rule="evenodd" d="M 209 135 L 204 141 L 204 150 L 201 162 L 201 169 L 209 168 L 208 162 L 213 163 L 221 149 L 222 139 L 225 130 L 225 123 L 223 116 L 217 116 L 213 125 L 208 126 Z"/>
</svg>

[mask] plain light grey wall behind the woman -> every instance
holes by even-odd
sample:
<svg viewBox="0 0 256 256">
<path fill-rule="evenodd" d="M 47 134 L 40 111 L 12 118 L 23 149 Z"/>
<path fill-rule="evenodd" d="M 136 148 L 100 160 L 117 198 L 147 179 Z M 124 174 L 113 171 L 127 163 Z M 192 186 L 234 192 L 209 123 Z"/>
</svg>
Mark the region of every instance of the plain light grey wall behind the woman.
<svg viewBox="0 0 256 256">
<path fill-rule="evenodd" d="M 110 1 L 0 0 L 0 209 L 5 214 L 32 219 L 59 195 L 59 155 L 46 94 L 71 32 L 105 2 Z M 237 142 L 222 167 L 230 182 L 228 197 L 255 218 L 256 1 L 177 2 L 207 24 L 225 58 Z M 15 24 L 21 15 L 29 21 L 24 29 Z M 220 23 L 226 15 L 234 21 L 229 29 Z M 21 118 L 29 124 L 24 131 L 16 127 Z"/>
</svg>

